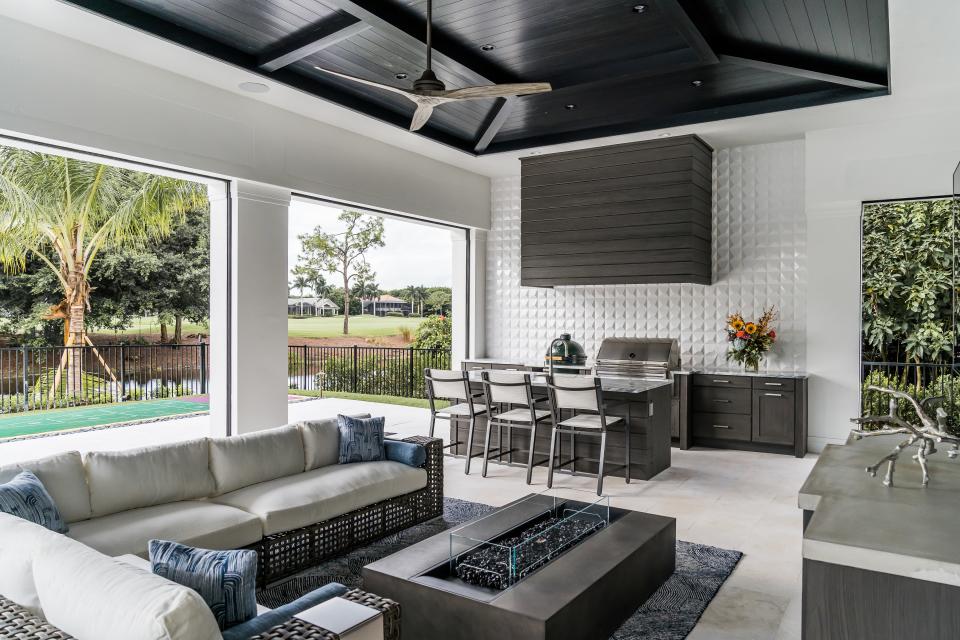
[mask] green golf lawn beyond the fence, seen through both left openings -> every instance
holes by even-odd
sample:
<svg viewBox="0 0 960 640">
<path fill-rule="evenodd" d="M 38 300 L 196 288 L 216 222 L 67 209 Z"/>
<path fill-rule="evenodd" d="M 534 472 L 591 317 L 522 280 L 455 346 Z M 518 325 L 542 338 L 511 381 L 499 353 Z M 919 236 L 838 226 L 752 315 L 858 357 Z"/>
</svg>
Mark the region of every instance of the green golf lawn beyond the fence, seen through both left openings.
<svg viewBox="0 0 960 640">
<path fill-rule="evenodd" d="M 380 318 L 377 316 L 350 316 L 350 335 L 357 338 L 379 338 L 383 336 L 400 335 L 400 329 L 406 327 L 414 334 L 423 318 Z M 343 316 L 327 316 L 316 318 L 288 318 L 288 335 L 291 338 L 337 338 L 343 335 Z M 167 330 L 173 333 L 173 325 Z M 184 335 L 195 333 L 206 334 L 207 327 L 185 322 Z M 111 334 L 111 330 L 97 333 Z M 118 335 L 159 334 L 160 323 L 155 317 L 138 318 L 129 327 L 116 332 Z"/>
</svg>

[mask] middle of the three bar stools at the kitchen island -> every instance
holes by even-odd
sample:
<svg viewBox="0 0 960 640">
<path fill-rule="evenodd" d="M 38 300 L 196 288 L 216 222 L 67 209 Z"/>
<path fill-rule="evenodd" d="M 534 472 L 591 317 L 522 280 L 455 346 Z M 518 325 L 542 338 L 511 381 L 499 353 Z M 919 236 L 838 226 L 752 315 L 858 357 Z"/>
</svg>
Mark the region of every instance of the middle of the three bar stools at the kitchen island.
<svg viewBox="0 0 960 640">
<path fill-rule="evenodd" d="M 490 434 L 494 427 L 497 429 L 497 455 L 507 453 L 508 462 L 513 461 L 513 429 L 528 429 L 530 431 L 530 450 L 527 453 L 527 484 L 533 477 L 533 450 L 537 441 L 537 424 L 550 417 L 550 411 L 538 409 L 537 403 L 546 398 L 534 398 L 533 387 L 530 385 L 530 374 L 510 373 L 507 371 L 484 371 L 480 374 L 483 380 L 483 391 L 487 400 L 487 436 L 483 442 L 483 472 L 487 477 L 487 464 L 490 462 Z M 494 406 L 507 405 L 506 411 L 493 412 Z M 519 405 L 520 408 L 511 409 Z M 503 450 L 503 428 L 507 428 L 507 443 L 509 449 Z M 540 464 L 538 461 L 537 464 Z"/>
</svg>

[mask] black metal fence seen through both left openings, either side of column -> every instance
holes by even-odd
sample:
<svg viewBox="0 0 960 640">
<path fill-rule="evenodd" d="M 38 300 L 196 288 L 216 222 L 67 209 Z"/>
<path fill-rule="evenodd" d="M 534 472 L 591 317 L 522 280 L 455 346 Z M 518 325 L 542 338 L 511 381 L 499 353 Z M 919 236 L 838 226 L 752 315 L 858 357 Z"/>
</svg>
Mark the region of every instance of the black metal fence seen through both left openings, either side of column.
<svg viewBox="0 0 960 640">
<path fill-rule="evenodd" d="M 425 398 L 423 370 L 450 368 L 448 349 L 288 348 L 291 389 Z M 207 393 L 209 346 L 0 348 L 0 413 Z"/>
</svg>

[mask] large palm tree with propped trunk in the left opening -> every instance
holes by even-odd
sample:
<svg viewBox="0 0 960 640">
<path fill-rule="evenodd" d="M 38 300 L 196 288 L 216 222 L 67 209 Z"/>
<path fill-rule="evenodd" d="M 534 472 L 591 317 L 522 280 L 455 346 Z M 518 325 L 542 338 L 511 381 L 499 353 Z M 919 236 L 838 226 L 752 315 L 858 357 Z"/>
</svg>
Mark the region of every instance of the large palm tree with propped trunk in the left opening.
<svg viewBox="0 0 960 640">
<path fill-rule="evenodd" d="M 84 315 L 99 252 L 162 240 L 188 211 L 206 204 L 205 189 L 195 183 L 0 147 L 0 264 L 7 273 L 22 272 L 35 256 L 49 267 L 63 300 L 45 317 L 63 320 L 64 346 L 92 347 Z M 64 349 L 51 400 L 65 367 L 68 391 L 79 389 L 82 363 L 74 351 Z"/>
</svg>

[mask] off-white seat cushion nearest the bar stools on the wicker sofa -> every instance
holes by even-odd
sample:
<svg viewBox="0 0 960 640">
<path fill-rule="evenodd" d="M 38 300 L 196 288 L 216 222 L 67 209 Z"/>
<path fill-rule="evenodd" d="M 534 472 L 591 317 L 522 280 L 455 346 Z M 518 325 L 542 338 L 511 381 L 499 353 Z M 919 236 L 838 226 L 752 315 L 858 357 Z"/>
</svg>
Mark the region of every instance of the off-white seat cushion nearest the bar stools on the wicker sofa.
<svg viewBox="0 0 960 640">
<path fill-rule="evenodd" d="M 427 472 L 400 462 L 321 467 L 213 498 L 260 517 L 265 536 L 323 522 L 427 486 Z"/>
</svg>

